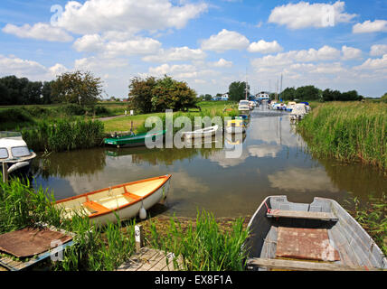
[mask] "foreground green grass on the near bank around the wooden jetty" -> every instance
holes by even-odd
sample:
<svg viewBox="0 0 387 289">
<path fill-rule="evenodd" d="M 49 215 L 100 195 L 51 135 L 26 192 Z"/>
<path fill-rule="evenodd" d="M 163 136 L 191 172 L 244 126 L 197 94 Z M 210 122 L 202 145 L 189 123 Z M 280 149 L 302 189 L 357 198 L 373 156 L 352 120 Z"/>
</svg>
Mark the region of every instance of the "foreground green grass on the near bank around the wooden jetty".
<svg viewBox="0 0 387 289">
<path fill-rule="evenodd" d="M 0 178 L 2 177 L 0 173 Z M 66 247 L 61 262 L 49 264 L 57 271 L 111 271 L 135 252 L 136 220 L 95 226 L 89 218 L 74 216 L 61 219 L 62 211 L 54 208 L 53 193 L 34 191 L 30 183 L 11 179 L 0 182 L 0 234 L 34 226 L 38 222 L 62 228 L 75 234 L 74 245 Z M 245 252 L 241 250 L 247 231 L 238 219 L 230 233 L 223 233 L 209 213 L 198 213 L 196 226 L 183 231 L 174 218 L 163 237 L 152 223 L 147 241 L 160 249 L 184 257 L 185 270 L 242 270 Z M 163 232 L 165 233 L 165 232 Z"/>
</svg>

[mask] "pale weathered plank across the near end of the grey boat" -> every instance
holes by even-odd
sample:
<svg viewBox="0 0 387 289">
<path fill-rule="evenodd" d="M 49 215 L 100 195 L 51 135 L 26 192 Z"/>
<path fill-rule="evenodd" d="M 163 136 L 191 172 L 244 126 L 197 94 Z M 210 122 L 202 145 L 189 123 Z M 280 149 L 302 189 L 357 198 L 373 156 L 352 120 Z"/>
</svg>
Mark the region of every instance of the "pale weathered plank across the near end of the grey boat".
<svg viewBox="0 0 387 289">
<path fill-rule="evenodd" d="M 377 268 L 360 266 L 343 266 L 334 263 L 315 263 L 306 261 L 250 258 L 248 266 L 260 266 L 293 271 L 376 271 Z"/>
</svg>

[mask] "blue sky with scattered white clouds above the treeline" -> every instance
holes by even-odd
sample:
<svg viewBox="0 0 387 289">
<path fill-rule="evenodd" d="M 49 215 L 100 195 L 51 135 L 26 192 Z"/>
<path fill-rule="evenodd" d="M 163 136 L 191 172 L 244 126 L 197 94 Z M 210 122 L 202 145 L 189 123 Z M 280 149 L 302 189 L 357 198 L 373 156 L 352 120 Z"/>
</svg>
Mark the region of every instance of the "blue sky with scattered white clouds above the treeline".
<svg viewBox="0 0 387 289">
<path fill-rule="evenodd" d="M 103 98 L 130 79 L 185 81 L 198 95 L 315 85 L 387 92 L 387 1 L 5 0 L 0 77 L 87 70 Z"/>
</svg>

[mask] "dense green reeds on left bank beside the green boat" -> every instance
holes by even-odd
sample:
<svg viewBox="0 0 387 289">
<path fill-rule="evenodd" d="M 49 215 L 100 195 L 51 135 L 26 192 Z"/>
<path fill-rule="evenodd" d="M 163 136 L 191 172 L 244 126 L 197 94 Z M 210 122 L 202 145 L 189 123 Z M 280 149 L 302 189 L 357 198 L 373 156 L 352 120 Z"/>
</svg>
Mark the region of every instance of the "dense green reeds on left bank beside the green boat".
<svg viewBox="0 0 387 289">
<path fill-rule="evenodd" d="M 100 121 L 58 120 L 39 122 L 21 132 L 34 151 L 61 152 L 98 146 L 104 137 L 104 126 Z"/>
</svg>

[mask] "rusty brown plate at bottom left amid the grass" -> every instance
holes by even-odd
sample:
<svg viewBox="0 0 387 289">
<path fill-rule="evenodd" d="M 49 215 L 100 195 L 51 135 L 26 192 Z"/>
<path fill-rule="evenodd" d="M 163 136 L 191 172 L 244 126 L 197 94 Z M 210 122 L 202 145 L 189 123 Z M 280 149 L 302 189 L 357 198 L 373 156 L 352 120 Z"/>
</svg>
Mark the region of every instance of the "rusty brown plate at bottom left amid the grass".
<svg viewBox="0 0 387 289">
<path fill-rule="evenodd" d="M 71 236 L 49 228 L 27 227 L 0 235 L 0 251 L 17 257 L 34 256 L 71 239 Z"/>
</svg>

